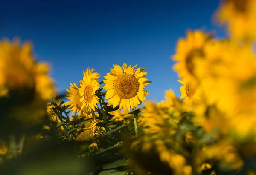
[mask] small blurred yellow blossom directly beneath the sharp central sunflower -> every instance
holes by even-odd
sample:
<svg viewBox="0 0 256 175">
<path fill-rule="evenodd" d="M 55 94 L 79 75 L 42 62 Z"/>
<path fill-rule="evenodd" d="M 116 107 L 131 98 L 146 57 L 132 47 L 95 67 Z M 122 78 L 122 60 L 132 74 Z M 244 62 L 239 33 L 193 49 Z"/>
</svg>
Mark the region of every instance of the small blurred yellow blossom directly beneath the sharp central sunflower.
<svg viewBox="0 0 256 175">
<path fill-rule="evenodd" d="M 128 111 L 120 112 L 119 110 L 109 112 L 110 114 L 114 115 L 114 117 L 111 118 L 111 121 L 118 122 L 123 121 L 124 125 L 129 125 L 131 122 L 133 122 L 133 115 L 128 114 Z"/>
</svg>

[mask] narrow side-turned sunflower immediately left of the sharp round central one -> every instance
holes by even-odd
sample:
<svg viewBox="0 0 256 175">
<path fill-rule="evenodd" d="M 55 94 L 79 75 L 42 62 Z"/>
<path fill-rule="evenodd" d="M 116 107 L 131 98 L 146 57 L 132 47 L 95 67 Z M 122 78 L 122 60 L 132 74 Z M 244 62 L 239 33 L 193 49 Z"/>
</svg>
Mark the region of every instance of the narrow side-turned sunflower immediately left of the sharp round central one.
<svg viewBox="0 0 256 175">
<path fill-rule="evenodd" d="M 95 80 L 91 76 L 84 76 L 80 86 L 81 110 L 84 109 L 86 112 L 95 111 L 95 108 L 98 107 L 97 103 L 99 103 L 99 98 L 96 95 L 96 91 L 99 90 L 100 87 L 98 80 Z"/>
</svg>

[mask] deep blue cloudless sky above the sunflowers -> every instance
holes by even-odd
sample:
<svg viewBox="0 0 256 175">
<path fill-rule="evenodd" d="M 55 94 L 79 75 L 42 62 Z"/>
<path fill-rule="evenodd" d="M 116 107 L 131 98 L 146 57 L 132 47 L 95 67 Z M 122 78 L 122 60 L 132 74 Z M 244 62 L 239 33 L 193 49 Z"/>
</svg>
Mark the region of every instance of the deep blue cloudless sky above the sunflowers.
<svg viewBox="0 0 256 175">
<path fill-rule="evenodd" d="M 101 80 L 113 64 L 145 68 L 148 100 L 180 83 L 172 71 L 179 37 L 187 29 L 223 30 L 212 22 L 218 0 L 19 0 L 0 2 L 0 37 L 32 40 L 39 61 L 49 61 L 61 92 L 87 67 Z"/>
</svg>

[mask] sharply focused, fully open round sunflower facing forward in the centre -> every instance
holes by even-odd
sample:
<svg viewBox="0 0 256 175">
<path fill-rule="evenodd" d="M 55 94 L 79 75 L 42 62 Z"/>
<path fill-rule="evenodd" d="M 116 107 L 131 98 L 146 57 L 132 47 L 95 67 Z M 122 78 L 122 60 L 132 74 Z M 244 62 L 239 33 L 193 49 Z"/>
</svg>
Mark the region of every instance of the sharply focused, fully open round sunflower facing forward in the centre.
<svg viewBox="0 0 256 175">
<path fill-rule="evenodd" d="M 130 108 L 137 108 L 146 100 L 145 95 L 149 94 L 145 86 L 151 81 L 145 78 L 147 72 L 144 72 L 144 69 L 138 68 L 134 71 L 136 67 L 137 65 L 127 67 L 124 63 L 121 68 L 114 64 L 114 69 L 104 76 L 103 82 L 106 84 L 103 89 L 107 90 L 105 99 L 109 99 L 109 105 L 116 107 L 119 104 L 119 110 L 123 108 L 124 111 L 130 111 Z"/>
</svg>

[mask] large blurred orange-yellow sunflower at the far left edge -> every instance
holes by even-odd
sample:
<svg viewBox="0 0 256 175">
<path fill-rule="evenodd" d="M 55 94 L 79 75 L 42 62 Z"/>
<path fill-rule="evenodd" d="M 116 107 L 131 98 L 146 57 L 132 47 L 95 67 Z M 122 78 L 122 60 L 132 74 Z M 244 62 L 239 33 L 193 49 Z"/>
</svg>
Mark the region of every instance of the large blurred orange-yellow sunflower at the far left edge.
<svg viewBox="0 0 256 175">
<path fill-rule="evenodd" d="M 19 99 L 30 99 L 39 95 L 42 100 L 49 100 L 53 95 L 54 84 L 49 77 L 49 66 L 36 63 L 32 55 L 32 44 L 15 39 L 0 42 L 0 96 L 25 95 Z"/>
</svg>

